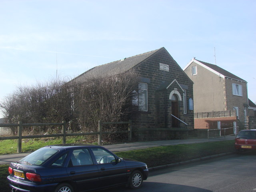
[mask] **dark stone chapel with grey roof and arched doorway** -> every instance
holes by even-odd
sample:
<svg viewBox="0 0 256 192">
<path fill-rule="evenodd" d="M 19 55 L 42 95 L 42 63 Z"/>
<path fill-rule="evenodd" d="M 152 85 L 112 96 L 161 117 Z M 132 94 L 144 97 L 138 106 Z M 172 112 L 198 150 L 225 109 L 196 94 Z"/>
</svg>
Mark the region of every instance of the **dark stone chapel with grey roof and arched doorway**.
<svg viewBox="0 0 256 192">
<path fill-rule="evenodd" d="M 176 138 L 194 128 L 193 82 L 164 47 L 96 66 L 77 78 L 131 69 L 140 76 L 140 94 L 133 101 L 137 110 L 131 114 L 139 140 Z"/>
</svg>

